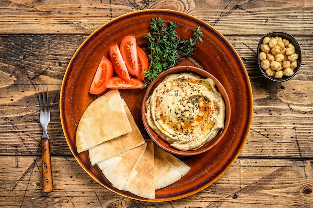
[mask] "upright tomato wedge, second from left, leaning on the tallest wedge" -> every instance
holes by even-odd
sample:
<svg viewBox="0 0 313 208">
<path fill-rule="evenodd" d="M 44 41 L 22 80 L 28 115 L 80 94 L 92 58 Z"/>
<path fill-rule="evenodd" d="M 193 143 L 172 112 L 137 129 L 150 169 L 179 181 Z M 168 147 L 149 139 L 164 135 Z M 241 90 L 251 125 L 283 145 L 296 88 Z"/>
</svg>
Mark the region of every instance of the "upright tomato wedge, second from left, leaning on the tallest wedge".
<svg viewBox="0 0 313 208">
<path fill-rule="evenodd" d="M 130 81 L 130 76 L 121 56 L 118 45 L 112 45 L 109 49 L 110 59 L 113 64 L 114 71 L 124 81 Z"/>
</svg>

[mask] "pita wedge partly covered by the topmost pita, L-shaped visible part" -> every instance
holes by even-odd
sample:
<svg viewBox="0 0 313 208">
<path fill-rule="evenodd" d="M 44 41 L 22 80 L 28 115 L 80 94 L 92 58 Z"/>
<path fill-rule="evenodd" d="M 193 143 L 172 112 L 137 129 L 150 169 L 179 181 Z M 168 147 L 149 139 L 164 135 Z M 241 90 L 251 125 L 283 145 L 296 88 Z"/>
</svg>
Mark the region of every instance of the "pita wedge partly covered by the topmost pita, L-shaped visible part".
<svg viewBox="0 0 313 208">
<path fill-rule="evenodd" d="M 145 143 L 138 126 L 133 120 L 127 104 L 124 100 L 122 100 L 122 103 L 126 110 L 132 131 L 89 149 L 89 158 L 92 165 L 95 165 L 96 163 L 114 157 Z"/>
</svg>

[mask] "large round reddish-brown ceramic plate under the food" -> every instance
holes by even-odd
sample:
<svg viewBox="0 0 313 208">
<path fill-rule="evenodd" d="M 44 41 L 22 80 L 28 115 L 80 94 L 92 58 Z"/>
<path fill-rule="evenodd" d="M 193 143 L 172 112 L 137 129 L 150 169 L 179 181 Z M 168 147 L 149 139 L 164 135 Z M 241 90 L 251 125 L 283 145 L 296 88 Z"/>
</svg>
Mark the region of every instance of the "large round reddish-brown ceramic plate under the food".
<svg viewBox="0 0 313 208">
<path fill-rule="evenodd" d="M 175 21 L 181 38 L 190 38 L 193 29 L 201 26 L 203 42 L 194 51 L 192 59 L 181 65 L 203 67 L 215 76 L 226 89 L 231 103 L 231 118 L 226 135 L 209 151 L 183 158 L 191 170 L 176 183 L 157 190 L 153 200 L 120 191 L 104 177 L 97 165 L 92 166 L 88 151 L 77 153 L 76 129 L 82 113 L 95 100 L 89 94 L 93 76 L 103 55 L 108 57 L 112 44 L 119 44 L 128 34 L 136 36 L 140 46 L 146 46 L 151 18 L 161 17 Z M 141 117 L 141 102 L 145 90 L 120 90 L 122 98 L 145 138 Z M 170 201 L 197 193 L 214 183 L 233 164 L 243 148 L 252 119 L 252 90 L 247 71 L 231 44 L 211 26 L 190 15 L 171 10 L 142 10 L 122 15 L 94 31 L 78 48 L 65 72 L 60 114 L 66 141 L 82 168 L 106 188 L 129 198 L 145 201 Z"/>
</svg>

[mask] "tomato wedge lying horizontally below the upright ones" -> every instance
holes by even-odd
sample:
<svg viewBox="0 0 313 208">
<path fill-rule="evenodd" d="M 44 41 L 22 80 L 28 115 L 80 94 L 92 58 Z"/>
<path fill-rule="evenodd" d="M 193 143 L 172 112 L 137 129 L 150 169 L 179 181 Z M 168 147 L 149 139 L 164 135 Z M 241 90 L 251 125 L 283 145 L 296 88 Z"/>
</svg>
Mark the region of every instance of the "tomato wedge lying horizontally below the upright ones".
<svg viewBox="0 0 313 208">
<path fill-rule="evenodd" d="M 130 81 L 124 81 L 118 76 L 112 77 L 105 82 L 109 89 L 141 89 L 142 81 L 135 78 L 130 78 Z"/>
</svg>

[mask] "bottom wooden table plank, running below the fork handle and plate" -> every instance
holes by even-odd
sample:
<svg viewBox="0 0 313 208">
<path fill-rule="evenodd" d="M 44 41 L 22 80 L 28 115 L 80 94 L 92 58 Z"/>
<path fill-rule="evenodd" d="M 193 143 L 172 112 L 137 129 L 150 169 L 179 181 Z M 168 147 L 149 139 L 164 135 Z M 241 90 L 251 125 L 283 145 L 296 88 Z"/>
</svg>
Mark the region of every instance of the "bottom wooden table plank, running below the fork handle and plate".
<svg viewBox="0 0 313 208">
<path fill-rule="evenodd" d="M 5 207 L 313 205 L 313 160 L 238 159 L 226 174 L 201 192 L 164 203 L 135 201 L 106 189 L 73 157 L 52 157 L 54 190 L 51 193 L 42 192 L 40 157 L 0 156 L 0 163 L 0 204 Z"/>
</svg>

